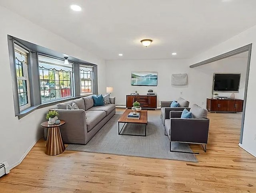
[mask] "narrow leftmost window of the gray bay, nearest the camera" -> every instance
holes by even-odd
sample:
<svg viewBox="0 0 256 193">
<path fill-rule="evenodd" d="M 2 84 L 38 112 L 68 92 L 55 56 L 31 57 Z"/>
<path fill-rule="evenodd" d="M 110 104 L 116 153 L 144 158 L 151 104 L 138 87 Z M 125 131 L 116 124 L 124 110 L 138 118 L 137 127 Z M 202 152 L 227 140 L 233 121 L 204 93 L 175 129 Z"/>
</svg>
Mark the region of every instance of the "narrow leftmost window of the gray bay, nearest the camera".
<svg viewBox="0 0 256 193">
<path fill-rule="evenodd" d="M 18 86 L 18 103 L 20 110 L 30 107 L 28 79 L 28 51 L 14 44 L 15 67 Z"/>
</svg>

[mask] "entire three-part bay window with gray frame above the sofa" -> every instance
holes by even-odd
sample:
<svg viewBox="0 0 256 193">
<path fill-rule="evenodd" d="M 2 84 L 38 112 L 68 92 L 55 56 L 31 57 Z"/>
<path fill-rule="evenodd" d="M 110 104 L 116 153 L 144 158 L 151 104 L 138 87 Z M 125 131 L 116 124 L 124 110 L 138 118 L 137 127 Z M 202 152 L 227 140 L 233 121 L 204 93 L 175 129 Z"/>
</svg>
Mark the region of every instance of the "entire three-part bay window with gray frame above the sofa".
<svg viewBox="0 0 256 193">
<path fill-rule="evenodd" d="M 10 35 L 7 38 L 14 112 L 18 118 L 60 100 L 98 94 L 97 65 L 71 56 L 65 65 L 62 53 Z"/>
</svg>

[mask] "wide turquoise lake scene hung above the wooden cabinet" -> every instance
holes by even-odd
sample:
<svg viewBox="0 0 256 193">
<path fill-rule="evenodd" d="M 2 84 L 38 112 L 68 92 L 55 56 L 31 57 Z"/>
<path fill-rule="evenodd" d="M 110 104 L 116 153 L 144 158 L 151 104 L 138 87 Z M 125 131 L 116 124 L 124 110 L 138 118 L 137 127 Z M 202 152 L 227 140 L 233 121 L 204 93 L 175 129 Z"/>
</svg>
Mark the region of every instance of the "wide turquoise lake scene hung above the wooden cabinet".
<svg viewBox="0 0 256 193">
<path fill-rule="evenodd" d="M 132 86 L 157 86 L 157 72 L 132 72 Z"/>
</svg>

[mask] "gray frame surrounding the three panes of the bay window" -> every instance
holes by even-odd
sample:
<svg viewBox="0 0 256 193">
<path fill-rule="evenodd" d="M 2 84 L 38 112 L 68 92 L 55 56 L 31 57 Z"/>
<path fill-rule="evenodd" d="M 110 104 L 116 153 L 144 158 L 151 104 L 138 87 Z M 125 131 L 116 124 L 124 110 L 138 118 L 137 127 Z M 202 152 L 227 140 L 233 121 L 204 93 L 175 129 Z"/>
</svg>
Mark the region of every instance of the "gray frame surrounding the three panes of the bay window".
<svg viewBox="0 0 256 193">
<path fill-rule="evenodd" d="M 36 109 L 44 108 L 47 106 L 53 106 L 60 102 L 66 102 L 68 100 L 81 98 L 91 94 L 98 94 L 98 76 L 97 76 L 97 65 L 92 63 L 87 63 L 81 59 L 77 59 L 75 57 L 70 56 L 68 61 L 72 63 L 72 83 L 70 84 L 72 96 L 71 97 L 63 97 L 57 98 L 56 100 L 49 100 L 49 102 L 42 103 L 41 95 L 40 95 L 40 75 L 39 75 L 39 62 L 38 62 L 38 54 L 44 55 L 47 57 L 52 57 L 54 59 L 59 59 L 64 61 L 63 53 L 58 53 L 57 51 L 52 51 L 46 47 L 42 47 L 40 45 L 36 45 L 34 43 L 30 43 L 28 41 L 24 41 L 17 37 L 13 37 L 11 35 L 7 35 L 7 43 L 8 43 L 8 52 L 9 52 L 9 61 L 10 61 L 10 72 L 11 72 L 11 81 L 12 81 L 12 93 L 13 93 L 13 101 L 14 101 L 14 115 L 18 117 L 18 119 L 30 114 Z M 28 53 L 28 81 L 29 85 L 29 94 L 30 97 L 30 106 L 25 109 L 20 109 L 19 99 L 18 99 L 18 81 L 17 81 L 17 72 L 16 72 L 16 61 L 15 61 L 15 50 L 14 43 L 23 49 L 27 50 Z M 80 72 L 79 72 L 79 64 L 84 64 L 93 67 L 93 92 L 81 95 L 80 93 Z M 27 82 L 28 83 L 28 82 Z"/>
</svg>

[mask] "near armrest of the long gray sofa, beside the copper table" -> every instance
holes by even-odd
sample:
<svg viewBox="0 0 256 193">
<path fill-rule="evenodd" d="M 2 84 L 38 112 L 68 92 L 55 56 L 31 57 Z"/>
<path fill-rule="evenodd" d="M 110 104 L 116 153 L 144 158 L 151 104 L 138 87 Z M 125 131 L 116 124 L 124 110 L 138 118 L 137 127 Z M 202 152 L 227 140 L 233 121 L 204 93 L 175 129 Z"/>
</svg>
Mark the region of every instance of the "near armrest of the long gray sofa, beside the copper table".
<svg viewBox="0 0 256 193">
<path fill-rule="evenodd" d="M 66 122 L 60 128 L 64 143 L 86 144 L 88 134 L 85 110 L 56 110 L 59 112 L 58 118 Z"/>
</svg>

